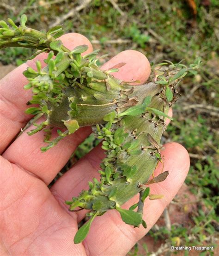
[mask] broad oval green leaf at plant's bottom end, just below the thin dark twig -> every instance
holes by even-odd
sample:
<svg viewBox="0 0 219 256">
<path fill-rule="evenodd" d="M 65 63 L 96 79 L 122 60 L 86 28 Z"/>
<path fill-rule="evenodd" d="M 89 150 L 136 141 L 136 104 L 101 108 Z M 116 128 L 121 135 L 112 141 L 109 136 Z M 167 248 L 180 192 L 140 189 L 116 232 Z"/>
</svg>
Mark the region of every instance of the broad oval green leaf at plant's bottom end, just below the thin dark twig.
<svg viewBox="0 0 219 256">
<path fill-rule="evenodd" d="M 139 226 L 142 223 L 142 218 L 139 212 L 125 210 L 120 207 L 116 207 L 116 210 L 120 213 L 122 220 L 126 224 Z"/>
</svg>

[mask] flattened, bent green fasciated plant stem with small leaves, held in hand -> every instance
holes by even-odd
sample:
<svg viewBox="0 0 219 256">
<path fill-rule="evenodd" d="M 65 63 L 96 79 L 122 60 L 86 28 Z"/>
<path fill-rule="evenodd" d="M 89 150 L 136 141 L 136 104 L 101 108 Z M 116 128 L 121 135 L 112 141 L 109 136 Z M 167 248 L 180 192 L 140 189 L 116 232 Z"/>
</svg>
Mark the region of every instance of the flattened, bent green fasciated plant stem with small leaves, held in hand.
<svg viewBox="0 0 219 256">
<path fill-rule="evenodd" d="M 33 92 L 28 105 L 38 105 L 28 108 L 26 113 L 46 117 L 40 125 L 35 124 L 36 129 L 29 135 L 46 132 L 47 146 L 41 148 L 44 152 L 79 127 L 92 126 L 106 150 L 100 165 L 100 181 L 94 178 L 88 190 L 66 201 L 70 211 L 90 210 L 90 219 L 79 229 L 74 243 L 85 239 L 94 218 L 111 209 L 116 209 L 125 223 L 146 228 L 142 219 L 144 200 L 160 197 L 151 195 L 147 185 L 163 181 L 168 175 L 166 171 L 149 180 L 158 162 L 164 164 L 160 139 L 166 129 L 165 119 L 171 119 L 167 113 L 177 100 L 179 81 L 188 71 L 192 73 L 200 60 L 189 68 L 165 61 L 153 66 L 149 82 L 132 86 L 111 75 L 125 63 L 102 71 L 97 66 L 98 50 L 82 56 L 87 45 L 68 50 L 56 39 L 63 33 L 61 26 L 43 33 L 26 27 L 26 20 L 26 15 L 22 15 L 19 26 L 12 19 L 8 19 L 8 24 L 0 21 L 0 48 L 20 46 L 39 50 L 31 58 L 48 53 L 46 67 L 36 61 L 36 70 L 29 67 L 24 71 L 29 81 L 24 88 Z M 58 130 L 57 137 L 50 141 L 54 127 L 66 131 Z M 140 195 L 139 203 L 129 210 L 122 209 L 136 194 Z"/>
</svg>

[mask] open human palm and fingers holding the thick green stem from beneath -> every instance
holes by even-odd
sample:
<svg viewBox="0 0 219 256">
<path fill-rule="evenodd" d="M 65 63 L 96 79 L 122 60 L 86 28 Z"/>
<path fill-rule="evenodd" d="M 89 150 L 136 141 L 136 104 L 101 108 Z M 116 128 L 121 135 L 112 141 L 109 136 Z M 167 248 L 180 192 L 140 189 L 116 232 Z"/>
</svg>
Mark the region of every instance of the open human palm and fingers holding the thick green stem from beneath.
<svg viewBox="0 0 219 256">
<path fill-rule="evenodd" d="M 89 49 L 85 54 L 92 51 L 91 43 L 80 34 L 66 34 L 61 40 L 69 49 L 87 44 Z M 0 81 L 0 255 L 126 255 L 156 223 L 182 186 L 189 170 L 188 152 L 177 143 L 164 145 L 161 151 L 163 171 L 168 170 L 170 174 L 165 181 L 150 185 L 152 194 L 163 194 L 164 198 L 146 199 L 143 219 L 147 229 L 125 224 L 116 210 L 110 210 L 93 221 L 83 243 L 74 244 L 78 222 L 85 217 L 86 211 L 69 212 L 64 201 L 87 189 L 88 181 L 93 177 L 99 178 L 99 163 L 105 155 L 101 146 L 97 146 L 49 189 L 48 184 L 91 133 L 91 128 L 80 128 L 45 153 L 40 151 L 44 146 L 43 131 L 33 136 L 28 136 L 25 131 L 13 141 L 31 119 L 30 115 L 24 114 L 31 91 L 23 89 L 27 80 L 22 72 L 28 66 L 35 68 L 37 59 L 43 62 L 45 54 L 14 69 Z M 123 51 L 105 63 L 102 69 L 120 62 L 126 65 L 114 74 L 115 77 L 124 81 L 140 80 L 141 83 L 147 80 L 150 64 L 143 54 L 134 50 Z M 162 168 L 163 165 L 159 164 L 155 175 Z M 122 207 L 127 209 L 137 201 L 138 196 Z"/>
</svg>

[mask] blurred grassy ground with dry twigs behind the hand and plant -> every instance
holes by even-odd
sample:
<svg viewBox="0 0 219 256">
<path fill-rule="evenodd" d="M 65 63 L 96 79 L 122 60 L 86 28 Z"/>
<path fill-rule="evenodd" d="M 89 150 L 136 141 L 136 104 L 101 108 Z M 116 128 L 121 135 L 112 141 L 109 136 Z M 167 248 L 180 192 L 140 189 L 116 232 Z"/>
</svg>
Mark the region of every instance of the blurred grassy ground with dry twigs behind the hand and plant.
<svg viewBox="0 0 219 256">
<path fill-rule="evenodd" d="M 63 24 L 66 32 L 88 37 L 108 60 L 127 49 L 139 50 L 150 62 L 202 58 L 197 74 L 179 88 L 174 121 L 163 143 L 175 141 L 189 151 L 191 167 L 182 189 L 152 230 L 129 255 L 170 255 L 170 245 L 217 244 L 219 231 L 219 1 L 218 0 L 1 0 L 0 19 L 46 31 Z M 23 63 L 32 50 L 0 51 L 0 69 Z M 99 63 L 101 64 L 101 63 Z M 4 67 L 3 67 L 4 65 Z M 98 141 L 91 135 L 73 154 L 60 175 Z M 177 173 L 177 170 L 176 170 Z M 56 177 L 56 179 L 58 176 Z M 215 255 L 217 255 L 214 250 Z M 176 253 L 176 252 L 175 252 Z M 177 251 L 178 255 L 213 255 L 213 251 Z M 219 252 L 218 252 L 219 255 Z"/>
</svg>

